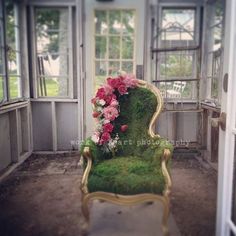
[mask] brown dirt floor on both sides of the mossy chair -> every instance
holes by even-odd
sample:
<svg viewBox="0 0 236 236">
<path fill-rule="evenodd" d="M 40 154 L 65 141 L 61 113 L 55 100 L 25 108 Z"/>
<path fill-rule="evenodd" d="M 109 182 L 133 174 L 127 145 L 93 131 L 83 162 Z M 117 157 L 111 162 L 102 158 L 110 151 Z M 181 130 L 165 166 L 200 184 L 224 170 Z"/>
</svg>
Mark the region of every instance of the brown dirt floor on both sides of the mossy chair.
<svg viewBox="0 0 236 236">
<path fill-rule="evenodd" d="M 78 162 L 78 155 L 35 155 L 7 177 L 0 184 L 0 235 L 81 235 Z M 193 155 L 175 154 L 172 178 L 171 211 L 181 234 L 213 236 L 216 172 Z"/>
</svg>

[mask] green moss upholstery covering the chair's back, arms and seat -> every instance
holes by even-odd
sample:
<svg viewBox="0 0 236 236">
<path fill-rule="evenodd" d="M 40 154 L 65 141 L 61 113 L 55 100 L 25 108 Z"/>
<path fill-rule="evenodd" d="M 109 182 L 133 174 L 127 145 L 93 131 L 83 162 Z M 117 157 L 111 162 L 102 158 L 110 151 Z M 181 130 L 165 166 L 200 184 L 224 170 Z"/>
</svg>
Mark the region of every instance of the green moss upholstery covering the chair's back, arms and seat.
<svg viewBox="0 0 236 236">
<path fill-rule="evenodd" d="M 116 157 L 103 153 L 90 138 L 81 146 L 81 151 L 86 146 L 90 147 L 93 157 L 89 191 L 161 194 L 165 186 L 161 157 L 165 148 L 172 152 L 173 146 L 166 139 L 152 139 L 148 134 L 157 107 L 156 96 L 145 88 L 136 88 L 120 97 L 119 103 L 120 115 L 115 120 L 114 130 L 120 137 Z M 124 124 L 128 129 L 122 133 L 120 126 Z"/>
</svg>

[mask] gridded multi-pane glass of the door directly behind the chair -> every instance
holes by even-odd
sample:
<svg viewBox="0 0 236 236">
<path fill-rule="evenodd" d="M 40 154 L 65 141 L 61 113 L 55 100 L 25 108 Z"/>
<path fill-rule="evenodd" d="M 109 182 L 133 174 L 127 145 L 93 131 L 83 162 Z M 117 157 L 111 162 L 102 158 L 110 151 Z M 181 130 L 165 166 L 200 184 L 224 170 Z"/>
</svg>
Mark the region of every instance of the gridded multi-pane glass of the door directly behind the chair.
<svg viewBox="0 0 236 236">
<path fill-rule="evenodd" d="M 95 87 L 118 71 L 134 73 L 135 10 L 95 10 Z"/>
</svg>

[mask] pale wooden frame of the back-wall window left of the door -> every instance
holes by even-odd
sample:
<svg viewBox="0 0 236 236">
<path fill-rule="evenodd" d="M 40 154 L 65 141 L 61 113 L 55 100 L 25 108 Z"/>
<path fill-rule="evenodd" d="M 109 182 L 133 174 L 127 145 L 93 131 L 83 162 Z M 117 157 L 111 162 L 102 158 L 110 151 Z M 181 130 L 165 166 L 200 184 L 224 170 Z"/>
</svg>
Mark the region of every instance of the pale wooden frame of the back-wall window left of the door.
<svg viewBox="0 0 236 236">
<path fill-rule="evenodd" d="M 30 37 L 32 38 L 32 96 L 35 99 L 42 100 L 60 100 L 60 99 L 74 99 L 74 54 L 73 54 L 73 4 L 47 4 L 46 2 L 32 4 L 29 7 L 29 15 L 31 20 L 31 32 Z M 39 94 L 39 72 L 37 66 L 37 37 L 36 37 L 36 10 L 37 9 L 66 9 L 68 10 L 68 76 L 55 76 L 55 77 L 68 77 L 67 87 L 68 87 L 68 95 L 67 96 L 40 96 Z"/>
</svg>

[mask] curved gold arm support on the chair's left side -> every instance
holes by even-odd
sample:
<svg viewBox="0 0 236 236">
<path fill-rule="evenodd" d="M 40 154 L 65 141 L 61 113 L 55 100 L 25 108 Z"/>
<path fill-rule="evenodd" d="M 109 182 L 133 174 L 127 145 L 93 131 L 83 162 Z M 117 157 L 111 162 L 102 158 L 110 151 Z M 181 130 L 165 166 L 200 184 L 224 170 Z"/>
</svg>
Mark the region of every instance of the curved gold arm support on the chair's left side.
<svg viewBox="0 0 236 236">
<path fill-rule="evenodd" d="M 88 193 L 88 176 L 92 168 L 92 155 L 89 147 L 85 147 L 82 156 L 87 159 L 87 165 L 81 181 L 81 190 L 84 194 Z"/>
</svg>

